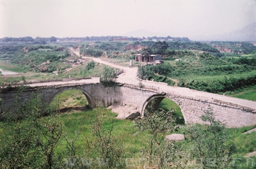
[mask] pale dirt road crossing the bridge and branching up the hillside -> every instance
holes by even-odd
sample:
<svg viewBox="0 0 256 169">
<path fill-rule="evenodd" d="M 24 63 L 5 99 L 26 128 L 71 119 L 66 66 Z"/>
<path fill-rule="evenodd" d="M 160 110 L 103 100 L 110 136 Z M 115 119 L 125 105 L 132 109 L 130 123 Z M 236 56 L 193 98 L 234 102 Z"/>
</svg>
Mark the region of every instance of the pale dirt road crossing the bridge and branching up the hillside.
<svg viewBox="0 0 256 169">
<path fill-rule="evenodd" d="M 84 57 L 87 59 L 92 59 L 95 62 L 99 62 L 101 64 L 106 64 L 108 66 L 111 66 L 112 68 L 118 68 L 120 70 L 124 70 L 124 73 L 122 73 L 121 75 L 118 75 L 117 78 L 117 82 L 120 82 L 122 84 L 134 84 L 134 85 L 138 85 L 140 80 L 138 80 L 137 78 L 137 71 L 138 68 L 136 67 L 125 67 L 125 66 L 120 66 L 120 65 L 116 65 L 113 64 L 111 62 L 108 61 L 104 61 L 102 59 L 99 58 L 95 58 L 95 57 Z M 44 84 L 30 84 L 30 86 L 39 86 L 39 85 L 57 85 L 57 84 L 81 84 L 81 83 L 99 83 L 99 78 L 92 78 L 92 79 L 88 79 L 88 80 L 78 80 L 78 81 L 70 81 L 70 82 L 49 82 L 49 83 L 44 83 Z M 191 90 L 185 87 L 173 87 L 173 86 L 168 86 L 168 85 L 164 85 L 161 83 L 157 83 L 157 82 L 147 82 L 145 80 L 143 80 L 142 84 L 146 85 L 146 86 L 154 86 L 154 87 L 159 87 L 159 91 L 162 92 L 167 92 L 170 94 L 175 94 L 177 96 L 187 96 L 187 97 L 191 97 L 191 98 L 196 98 L 196 99 L 207 99 L 207 100 L 214 100 L 217 102 L 221 102 L 221 103 L 232 103 L 235 105 L 241 105 L 243 107 L 248 107 L 248 108 L 252 108 L 256 110 L 256 102 L 255 101 L 249 101 L 246 99 L 238 99 L 238 98 L 231 98 L 228 96 L 223 96 L 220 94 L 213 94 L 213 93 L 209 93 L 209 92 L 202 92 L 202 91 L 195 91 L 195 90 Z"/>
</svg>

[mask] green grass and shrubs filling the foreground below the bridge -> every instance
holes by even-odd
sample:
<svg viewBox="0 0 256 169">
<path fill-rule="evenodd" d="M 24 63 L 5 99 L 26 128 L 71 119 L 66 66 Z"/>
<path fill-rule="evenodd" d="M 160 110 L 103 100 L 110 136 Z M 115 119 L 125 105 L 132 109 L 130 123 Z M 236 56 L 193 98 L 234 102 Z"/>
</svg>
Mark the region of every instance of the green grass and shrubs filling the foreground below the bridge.
<svg viewBox="0 0 256 169">
<path fill-rule="evenodd" d="M 17 116 L 0 122 L 0 168 L 246 168 L 243 158 L 233 163 L 234 143 L 211 110 L 202 116 L 205 124 L 185 129 L 177 128 L 172 112 L 148 112 L 134 122 L 136 136 L 134 126 L 109 116 L 105 108 L 42 117 L 45 107 L 37 97 L 16 111 Z M 166 141 L 174 131 L 183 132 L 186 140 Z M 136 151 L 134 145 L 139 145 Z"/>
</svg>

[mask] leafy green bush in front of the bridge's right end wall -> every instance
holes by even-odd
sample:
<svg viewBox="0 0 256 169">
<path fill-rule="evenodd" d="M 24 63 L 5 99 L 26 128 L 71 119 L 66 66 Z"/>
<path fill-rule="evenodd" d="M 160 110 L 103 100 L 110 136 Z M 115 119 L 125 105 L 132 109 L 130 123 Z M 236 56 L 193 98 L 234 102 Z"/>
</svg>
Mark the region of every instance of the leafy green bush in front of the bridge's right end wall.
<svg viewBox="0 0 256 169">
<path fill-rule="evenodd" d="M 195 124 L 187 131 L 193 143 L 191 154 L 200 159 L 202 168 L 229 168 L 236 148 L 234 143 L 226 143 L 228 135 L 225 124 L 215 119 L 211 109 L 201 119 L 205 124 Z"/>
</svg>

